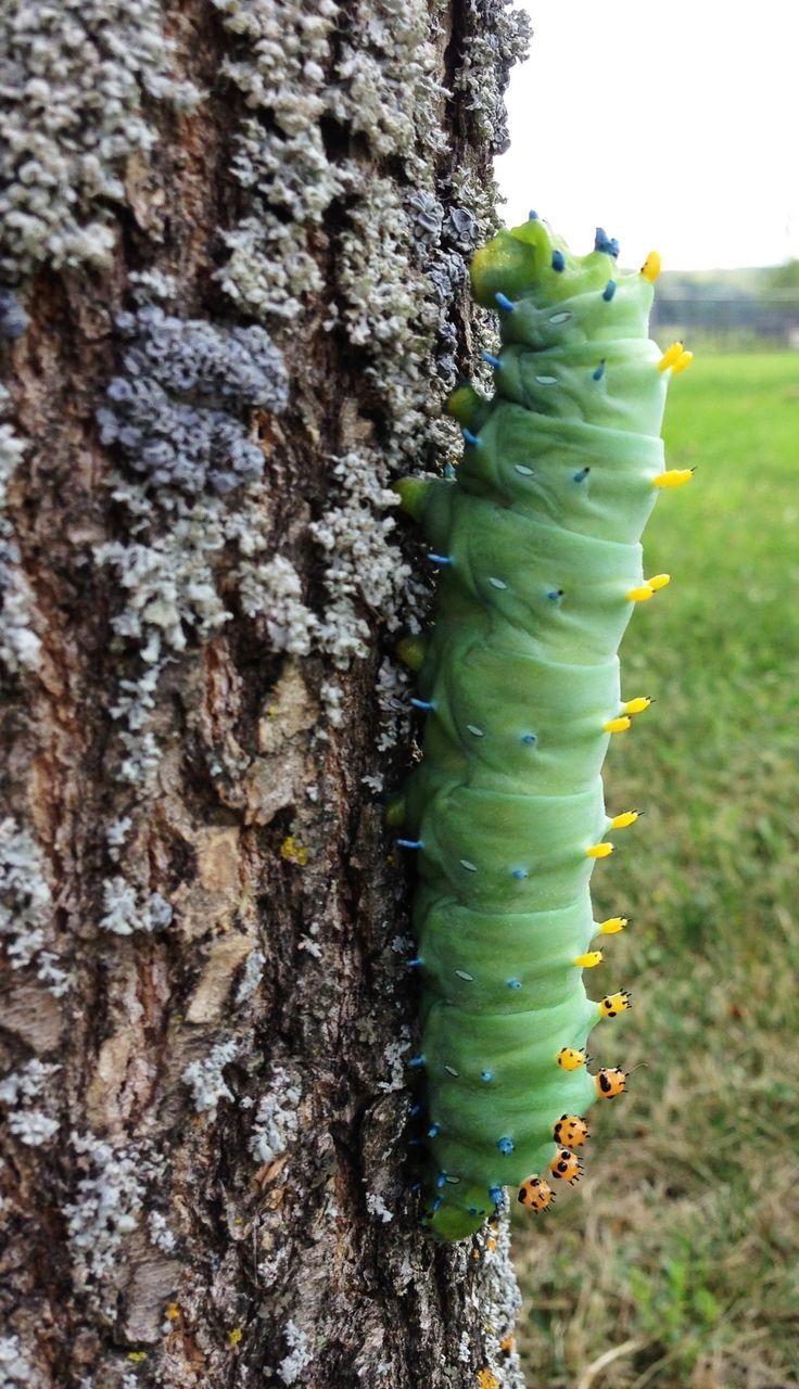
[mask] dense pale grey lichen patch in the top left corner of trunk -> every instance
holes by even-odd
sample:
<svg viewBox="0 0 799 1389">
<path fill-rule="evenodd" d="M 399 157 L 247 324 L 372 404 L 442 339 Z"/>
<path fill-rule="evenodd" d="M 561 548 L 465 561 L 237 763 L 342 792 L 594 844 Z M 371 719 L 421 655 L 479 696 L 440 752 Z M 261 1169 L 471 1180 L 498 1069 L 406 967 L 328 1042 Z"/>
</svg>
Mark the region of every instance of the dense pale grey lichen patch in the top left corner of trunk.
<svg viewBox="0 0 799 1389">
<path fill-rule="evenodd" d="M 157 0 L 4 6 L 0 86 L 0 268 L 14 279 L 42 263 L 106 261 L 125 163 L 146 158 L 157 138 L 145 94 L 178 110 L 199 100 L 170 78 Z"/>
</svg>

